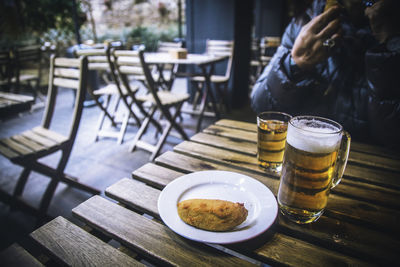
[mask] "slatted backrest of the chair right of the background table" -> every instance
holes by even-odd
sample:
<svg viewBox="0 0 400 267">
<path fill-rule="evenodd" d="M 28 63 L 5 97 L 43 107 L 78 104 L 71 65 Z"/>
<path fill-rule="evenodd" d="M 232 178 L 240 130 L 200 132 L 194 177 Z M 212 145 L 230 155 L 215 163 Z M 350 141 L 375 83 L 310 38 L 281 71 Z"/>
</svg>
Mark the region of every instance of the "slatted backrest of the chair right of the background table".
<svg viewBox="0 0 400 267">
<path fill-rule="evenodd" d="M 228 40 L 207 40 L 206 53 L 216 56 L 229 56 L 226 66 L 225 77 L 229 78 L 232 70 L 234 41 Z"/>
</svg>

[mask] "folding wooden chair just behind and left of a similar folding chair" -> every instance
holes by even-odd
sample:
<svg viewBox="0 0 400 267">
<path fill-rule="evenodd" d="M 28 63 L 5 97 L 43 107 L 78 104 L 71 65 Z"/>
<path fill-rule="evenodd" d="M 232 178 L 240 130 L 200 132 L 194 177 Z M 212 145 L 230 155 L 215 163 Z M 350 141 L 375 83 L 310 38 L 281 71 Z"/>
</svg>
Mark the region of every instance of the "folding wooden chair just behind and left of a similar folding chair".
<svg viewBox="0 0 400 267">
<path fill-rule="evenodd" d="M 81 49 L 76 51 L 77 56 L 85 55 L 88 57 L 89 70 L 97 71 L 98 75 L 102 77 L 105 86 L 99 89 L 93 89 L 88 87 L 90 96 L 95 101 L 96 105 L 100 108 L 101 114 L 99 122 L 96 127 L 96 138 L 95 141 L 99 140 L 99 137 L 111 137 L 117 138 L 118 144 L 122 144 L 126 133 L 127 126 L 129 124 L 129 118 L 133 117 L 138 127 L 141 125 L 141 120 L 135 114 L 132 109 L 132 103 L 128 100 L 128 91 L 126 87 L 118 82 L 118 77 L 115 73 L 113 59 L 111 57 L 111 46 L 106 46 L 102 49 Z M 138 91 L 138 86 L 130 85 L 129 91 L 135 94 Z M 120 103 L 123 101 L 127 112 L 124 114 L 123 119 L 117 121 L 117 110 Z M 112 101 L 115 105 L 112 107 Z M 106 128 L 106 118 L 113 127 L 120 127 L 119 131 L 110 131 Z"/>
</svg>

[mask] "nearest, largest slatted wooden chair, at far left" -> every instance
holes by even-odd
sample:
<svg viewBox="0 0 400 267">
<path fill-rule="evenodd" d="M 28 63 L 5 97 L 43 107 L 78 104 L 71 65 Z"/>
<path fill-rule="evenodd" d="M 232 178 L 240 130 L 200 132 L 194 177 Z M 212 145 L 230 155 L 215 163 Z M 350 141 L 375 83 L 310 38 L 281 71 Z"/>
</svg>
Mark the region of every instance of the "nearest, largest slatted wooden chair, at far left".
<svg viewBox="0 0 400 267">
<path fill-rule="evenodd" d="M 24 208 L 43 219 L 59 182 L 64 182 L 92 194 L 100 193 L 99 190 L 84 185 L 80 183 L 77 178 L 64 173 L 81 120 L 86 84 L 87 59 L 85 57 L 70 59 L 52 56 L 47 102 L 42 124 L 31 130 L 22 132 L 21 134 L 0 139 L 0 153 L 11 162 L 23 167 L 14 192 L 12 196 L 10 196 L 12 206 Z M 56 105 L 58 87 L 76 90 L 76 98 L 73 111 L 71 112 L 72 120 L 68 128 L 68 135 L 50 129 Z M 41 158 L 58 151 L 61 151 L 61 156 L 55 168 L 39 161 Z M 51 178 L 38 209 L 24 202 L 21 197 L 29 174 L 32 171 Z"/>
</svg>

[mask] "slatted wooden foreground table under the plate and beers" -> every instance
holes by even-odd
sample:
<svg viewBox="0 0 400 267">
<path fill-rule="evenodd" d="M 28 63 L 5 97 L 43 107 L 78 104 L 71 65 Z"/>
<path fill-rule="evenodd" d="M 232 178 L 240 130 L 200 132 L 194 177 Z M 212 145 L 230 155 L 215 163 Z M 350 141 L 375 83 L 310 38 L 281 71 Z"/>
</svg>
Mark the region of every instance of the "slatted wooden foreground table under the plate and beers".
<svg viewBox="0 0 400 267">
<path fill-rule="evenodd" d="M 297 225 L 279 215 L 257 238 L 219 246 L 187 240 L 160 221 L 161 190 L 190 172 L 239 172 L 276 194 L 278 177 L 257 164 L 256 134 L 255 124 L 218 121 L 107 188 L 107 198 L 94 196 L 74 208 L 83 228 L 58 217 L 34 231 L 30 236 L 42 253 L 34 256 L 68 265 L 101 266 L 141 265 L 143 260 L 163 266 L 398 264 L 400 157 L 360 143 L 352 143 L 345 176 L 332 191 L 324 215 L 312 224 Z M 3 256 L 16 254 L 36 260 L 18 245 L 3 252 Z"/>
</svg>

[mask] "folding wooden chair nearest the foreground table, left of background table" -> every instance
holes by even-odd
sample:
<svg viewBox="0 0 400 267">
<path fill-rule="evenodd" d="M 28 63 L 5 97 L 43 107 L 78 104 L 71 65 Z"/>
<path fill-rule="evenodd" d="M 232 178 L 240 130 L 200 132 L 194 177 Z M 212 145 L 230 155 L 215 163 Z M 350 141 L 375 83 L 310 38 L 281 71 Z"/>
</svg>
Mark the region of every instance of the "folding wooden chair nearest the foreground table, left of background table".
<svg viewBox="0 0 400 267">
<path fill-rule="evenodd" d="M 136 148 L 150 151 L 150 160 L 153 161 L 161 151 L 172 128 L 174 128 L 184 140 L 188 139 L 180 125 L 176 123 L 176 118 L 180 114 L 182 104 L 189 98 L 189 95 L 175 94 L 171 91 L 160 89 L 160 85 L 154 81 L 150 67 L 145 62 L 142 50 L 115 51 L 114 56 L 115 64 L 122 81 L 126 83 L 130 75 L 144 75 L 146 78 L 146 86 L 149 92 L 135 98 L 142 113 L 145 115 L 145 119 L 135 135 L 131 151 L 134 151 Z M 147 108 L 145 109 L 144 106 L 147 106 Z M 172 109 L 175 109 L 174 113 L 171 113 Z M 156 111 L 161 113 L 162 118 L 164 118 L 163 122 L 158 122 L 154 119 Z M 142 140 L 150 123 L 156 127 L 157 132 L 161 133 L 155 145 Z M 161 124 L 164 125 L 161 126 Z"/>
</svg>

